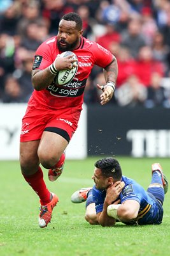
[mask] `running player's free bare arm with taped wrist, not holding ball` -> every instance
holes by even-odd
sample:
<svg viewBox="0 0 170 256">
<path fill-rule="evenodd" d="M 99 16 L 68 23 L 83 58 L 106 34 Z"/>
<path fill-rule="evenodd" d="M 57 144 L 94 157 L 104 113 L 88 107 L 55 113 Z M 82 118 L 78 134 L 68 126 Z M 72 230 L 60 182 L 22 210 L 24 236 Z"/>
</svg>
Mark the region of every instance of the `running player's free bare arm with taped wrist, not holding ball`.
<svg viewBox="0 0 170 256">
<path fill-rule="evenodd" d="M 115 91 L 117 76 L 118 76 L 118 65 L 117 59 L 113 56 L 113 61 L 103 69 L 104 77 L 106 80 L 105 85 L 97 84 L 97 88 L 103 90 L 101 94 L 101 105 L 108 103 L 113 97 L 113 93 Z"/>
</svg>

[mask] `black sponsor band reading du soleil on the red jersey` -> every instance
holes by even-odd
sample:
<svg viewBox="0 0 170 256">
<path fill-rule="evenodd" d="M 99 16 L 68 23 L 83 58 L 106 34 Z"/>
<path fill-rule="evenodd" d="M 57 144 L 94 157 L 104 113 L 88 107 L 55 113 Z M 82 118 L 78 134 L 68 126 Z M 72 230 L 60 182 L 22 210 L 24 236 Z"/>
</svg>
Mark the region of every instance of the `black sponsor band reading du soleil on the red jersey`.
<svg viewBox="0 0 170 256">
<path fill-rule="evenodd" d="M 83 81 L 72 81 L 62 87 L 53 83 L 50 84 L 46 90 L 55 97 L 78 97 L 83 94 L 86 81 L 87 79 Z"/>
</svg>

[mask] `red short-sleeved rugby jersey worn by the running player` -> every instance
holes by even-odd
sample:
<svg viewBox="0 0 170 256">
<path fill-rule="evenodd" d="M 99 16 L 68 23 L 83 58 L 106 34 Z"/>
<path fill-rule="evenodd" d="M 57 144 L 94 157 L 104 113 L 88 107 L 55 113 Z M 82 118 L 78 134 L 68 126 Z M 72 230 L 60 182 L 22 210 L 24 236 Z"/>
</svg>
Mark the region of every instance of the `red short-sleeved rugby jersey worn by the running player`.
<svg viewBox="0 0 170 256">
<path fill-rule="evenodd" d="M 101 45 L 89 41 L 83 36 L 79 47 L 73 52 L 78 57 L 78 70 L 74 79 L 63 86 L 52 83 L 47 84 L 44 90 L 34 90 L 29 100 L 29 106 L 41 104 L 52 109 L 61 110 L 74 107 L 81 110 L 85 84 L 92 67 L 94 65 L 102 68 L 107 67 L 113 61 L 113 55 Z M 49 38 L 38 47 L 32 69 L 45 69 L 55 61 L 60 53 L 57 48 L 57 36 Z"/>
</svg>

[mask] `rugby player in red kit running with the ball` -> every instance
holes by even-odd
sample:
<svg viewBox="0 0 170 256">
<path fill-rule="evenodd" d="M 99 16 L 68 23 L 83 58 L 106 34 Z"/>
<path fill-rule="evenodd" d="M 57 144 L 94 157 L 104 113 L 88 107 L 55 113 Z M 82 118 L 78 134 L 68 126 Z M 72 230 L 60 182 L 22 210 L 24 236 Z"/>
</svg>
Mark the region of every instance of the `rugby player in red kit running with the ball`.
<svg viewBox="0 0 170 256">
<path fill-rule="evenodd" d="M 92 67 L 104 70 L 106 84 L 101 90 L 101 105 L 110 101 L 115 90 L 118 67 L 111 52 L 82 36 L 82 20 L 77 13 L 67 13 L 59 22 L 57 36 L 41 44 L 32 66 L 34 92 L 22 119 L 20 135 L 20 167 L 22 175 L 40 199 L 39 227 L 48 225 L 57 195 L 51 193 L 43 179 L 39 164 L 48 170 L 48 179 L 56 180 L 64 166 L 66 149 L 76 131 L 83 104 L 83 92 Z M 59 70 L 73 68 L 73 51 L 78 58 L 78 70 L 73 80 L 64 86 L 53 82 Z"/>
</svg>

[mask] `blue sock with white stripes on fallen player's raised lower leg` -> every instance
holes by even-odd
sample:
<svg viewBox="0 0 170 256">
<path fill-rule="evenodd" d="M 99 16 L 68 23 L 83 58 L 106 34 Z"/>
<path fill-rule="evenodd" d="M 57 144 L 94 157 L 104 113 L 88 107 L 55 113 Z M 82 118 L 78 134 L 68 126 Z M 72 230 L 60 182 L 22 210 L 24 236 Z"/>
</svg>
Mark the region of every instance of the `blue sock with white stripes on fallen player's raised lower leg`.
<svg viewBox="0 0 170 256">
<path fill-rule="evenodd" d="M 147 191 L 151 193 L 157 200 L 163 204 L 164 202 L 164 188 L 162 184 L 162 176 L 159 171 L 155 171 L 152 174 L 152 180 Z"/>
</svg>

